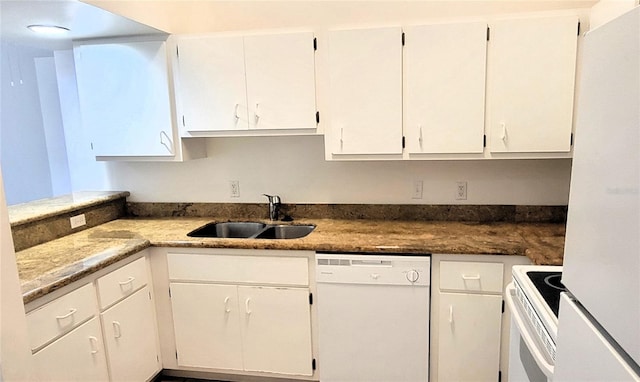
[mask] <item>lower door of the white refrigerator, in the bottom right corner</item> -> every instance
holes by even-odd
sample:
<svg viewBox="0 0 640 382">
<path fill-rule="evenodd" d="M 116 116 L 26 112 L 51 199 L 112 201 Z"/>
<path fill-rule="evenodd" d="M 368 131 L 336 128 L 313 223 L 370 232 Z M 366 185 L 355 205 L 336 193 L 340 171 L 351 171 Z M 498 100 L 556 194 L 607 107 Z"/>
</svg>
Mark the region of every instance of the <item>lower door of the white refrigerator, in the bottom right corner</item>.
<svg viewBox="0 0 640 382">
<path fill-rule="evenodd" d="M 566 293 L 560 297 L 560 312 L 554 382 L 640 381 L 632 363 Z"/>
</svg>

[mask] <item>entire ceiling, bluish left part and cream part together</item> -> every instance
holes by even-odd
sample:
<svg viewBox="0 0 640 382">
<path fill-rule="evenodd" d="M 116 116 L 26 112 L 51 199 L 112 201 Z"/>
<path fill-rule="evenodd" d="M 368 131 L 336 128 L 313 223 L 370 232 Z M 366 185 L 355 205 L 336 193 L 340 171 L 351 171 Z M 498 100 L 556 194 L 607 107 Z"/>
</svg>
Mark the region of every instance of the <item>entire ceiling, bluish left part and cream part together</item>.
<svg viewBox="0 0 640 382">
<path fill-rule="evenodd" d="M 406 23 L 484 14 L 588 8 L 596 0 L 0 0 L 3 42 L 50 50 L 71 40 L 166 33 Z M 135 20 L 135 21 L 134 21 Z M 43 37 L 26 28 L 70 29 Z M 358 24 L 358 22 L 355 22 Z"/>
</svg>

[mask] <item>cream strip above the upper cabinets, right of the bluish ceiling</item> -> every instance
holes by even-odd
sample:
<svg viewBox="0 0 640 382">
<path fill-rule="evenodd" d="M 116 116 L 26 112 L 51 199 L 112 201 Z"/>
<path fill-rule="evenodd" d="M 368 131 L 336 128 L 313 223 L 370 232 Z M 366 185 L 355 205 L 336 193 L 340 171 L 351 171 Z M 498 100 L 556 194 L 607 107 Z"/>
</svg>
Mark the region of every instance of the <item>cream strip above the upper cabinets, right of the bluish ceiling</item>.
<svg viewBox="0 0 640 382">
<path fill-rule="evenodd" d="M 82 0 L 167 33 L 371 26 L 590 8 L 597 0 Z"/>
</svg>

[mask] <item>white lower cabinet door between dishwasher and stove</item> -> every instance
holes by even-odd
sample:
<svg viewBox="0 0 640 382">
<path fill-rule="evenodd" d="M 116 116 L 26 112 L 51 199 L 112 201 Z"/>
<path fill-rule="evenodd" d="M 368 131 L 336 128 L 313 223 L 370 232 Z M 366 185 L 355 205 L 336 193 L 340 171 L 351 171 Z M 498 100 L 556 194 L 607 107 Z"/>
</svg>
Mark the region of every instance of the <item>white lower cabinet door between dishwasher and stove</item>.
<svg viewBox="0 0 640 382">
<path fill-rule="evenodd" d="M 440 293 L 439 381 L 497 381 L 502 296 Z"/>
</svg>

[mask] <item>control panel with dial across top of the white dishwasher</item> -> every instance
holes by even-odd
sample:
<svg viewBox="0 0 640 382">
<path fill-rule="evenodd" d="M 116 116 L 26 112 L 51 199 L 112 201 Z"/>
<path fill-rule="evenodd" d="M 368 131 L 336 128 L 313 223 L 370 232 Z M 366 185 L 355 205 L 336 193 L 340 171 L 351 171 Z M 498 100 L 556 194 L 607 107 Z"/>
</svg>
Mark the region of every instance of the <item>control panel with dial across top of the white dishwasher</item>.
<svg viewBox="0 0 640 382">
<path fill-rule="evenodd" d="M 318 253 L 316 280 L 319 283 L 429 286 L 431 258 Z"/>
</svg>

